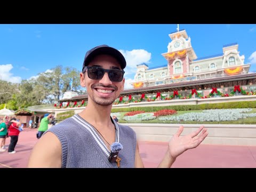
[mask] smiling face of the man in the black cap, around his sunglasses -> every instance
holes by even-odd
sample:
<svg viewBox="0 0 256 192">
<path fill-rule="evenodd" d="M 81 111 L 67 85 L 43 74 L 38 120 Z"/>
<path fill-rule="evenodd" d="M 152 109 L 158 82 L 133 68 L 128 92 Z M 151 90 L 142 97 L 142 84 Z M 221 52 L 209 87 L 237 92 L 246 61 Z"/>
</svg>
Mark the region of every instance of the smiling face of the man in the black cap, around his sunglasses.
<svg viewBox="0 0 256 192">
<path fill-rule="evenodd" d="M 118 61 L 110 55 L 98 55 L 87 67 L 92 66 L 121 70 Z M 101 79 L 94 80 L 88 77 L 87 69 L 84 74 L 80 74 L 80 83 L 81 86 L 86 87 L 89 99 L 102 106 L 112 105 L 124 90 L 124 78 L 121 82 L 111 82 L 108 73 L 105 73 Z"/>
</svg>

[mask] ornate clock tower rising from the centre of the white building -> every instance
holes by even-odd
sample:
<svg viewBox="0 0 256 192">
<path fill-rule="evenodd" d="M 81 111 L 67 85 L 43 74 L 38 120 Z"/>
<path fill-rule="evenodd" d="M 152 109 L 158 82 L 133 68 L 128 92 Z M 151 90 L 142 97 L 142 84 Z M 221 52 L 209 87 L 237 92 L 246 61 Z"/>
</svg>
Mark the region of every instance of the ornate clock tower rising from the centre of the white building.
<svg viewBox="0 0 256 192">
<path fill-rule="evenodd" d="M 188 76 L 189 63 L 197 59 L 186 30 L 177 30 L 169 35 L 172 41 L 167 46 L 167 52 L 162 53 L 167 60 L 168 73 L 172 78 Z"/>
</svg>

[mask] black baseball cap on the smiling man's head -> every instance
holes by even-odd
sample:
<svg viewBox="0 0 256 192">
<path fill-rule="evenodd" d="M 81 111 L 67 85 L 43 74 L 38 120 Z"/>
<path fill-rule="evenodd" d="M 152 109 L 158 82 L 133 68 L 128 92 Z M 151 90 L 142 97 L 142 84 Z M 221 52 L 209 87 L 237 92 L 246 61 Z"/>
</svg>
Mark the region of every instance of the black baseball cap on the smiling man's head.
<svg viewBox="0 0 256 192">
<path fill-rule="evenodd" d="M 91 50 L 87 51 L 84 57 L 83 69 L 82 72 L 84 73 L 85 67 L 90 63 L 90 61 L 100 54 L 108 54 L 113 56 L 117 59 L 120 63 L 121 68 L 124 69 L 126 67 L 126 61 L 124 59 L 123 54 L 118 51 L 117 49 L 110 47 L 108 45 L 99 45 L 93 47 Z"/>
</svg>

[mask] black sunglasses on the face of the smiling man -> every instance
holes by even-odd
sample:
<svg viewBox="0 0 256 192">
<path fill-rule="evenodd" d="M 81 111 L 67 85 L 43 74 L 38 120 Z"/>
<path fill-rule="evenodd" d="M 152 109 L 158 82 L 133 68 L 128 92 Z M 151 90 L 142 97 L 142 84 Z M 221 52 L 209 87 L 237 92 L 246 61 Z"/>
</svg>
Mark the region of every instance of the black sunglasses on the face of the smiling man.
<svg viewBox="0 0 256 192">
<path fill-rule="evenodd" d="M 108 73 L 108 78 L 111 82 L 121 82 L 124 77 L 124 71 L 118 69 L 103 69 L 100 67 L 86 67 L 87 74 L 90 79 L 100 80 L 104 74 Z"/>
</svg>

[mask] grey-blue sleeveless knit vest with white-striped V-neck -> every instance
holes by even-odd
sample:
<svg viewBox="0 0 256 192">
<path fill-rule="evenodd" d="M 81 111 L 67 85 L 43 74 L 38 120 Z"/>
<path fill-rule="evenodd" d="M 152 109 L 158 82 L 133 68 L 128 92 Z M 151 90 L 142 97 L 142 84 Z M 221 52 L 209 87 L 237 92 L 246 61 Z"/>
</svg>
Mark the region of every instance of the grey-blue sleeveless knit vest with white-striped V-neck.
<svg viewBox="0 0 256 192">
<path fill-rule="evenodd" d="M 136 134 L 131 127 L 118 124 L 112 118 L 111 121 L 116 129 L 115 142 L 119 142 L 123 146 L 123 149 L 118 153 L 121 158 L 120 167 L 134 167 Z M 61 167 L 117 167 L 116 162 L 108 161 L 110 151 L 97 130 L 78 114 L 54 125 L 46 132 L 49 131 L 60 140 Z"/>
</svg>

